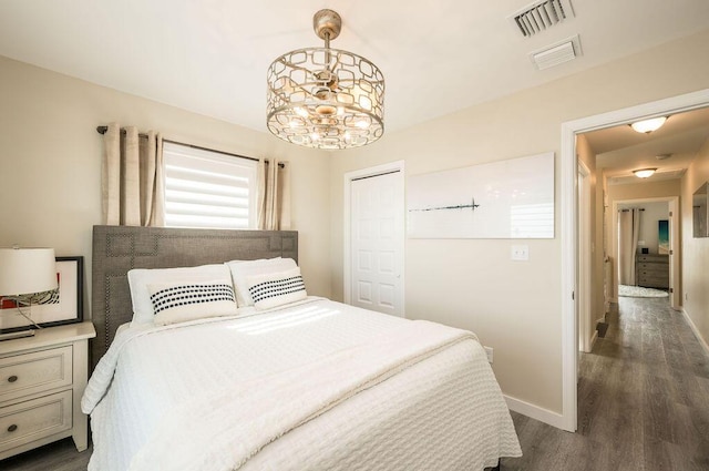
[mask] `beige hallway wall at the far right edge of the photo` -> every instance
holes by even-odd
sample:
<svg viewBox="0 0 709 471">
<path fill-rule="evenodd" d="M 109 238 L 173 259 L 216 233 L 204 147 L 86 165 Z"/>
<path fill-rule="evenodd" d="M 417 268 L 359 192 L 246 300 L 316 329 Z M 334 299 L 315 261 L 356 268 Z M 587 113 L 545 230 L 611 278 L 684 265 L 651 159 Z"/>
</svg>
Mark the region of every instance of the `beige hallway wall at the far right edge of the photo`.
<svg viewBox="0 0 709 471">
<path fill-rule="evenodd" d="M 692 237 L 692 193 L 709 181 L 709 140 L 705 142 L 682 178 L 682 306 L 702 337 L 709 342 L 709 238 Z"/>
</svg>

